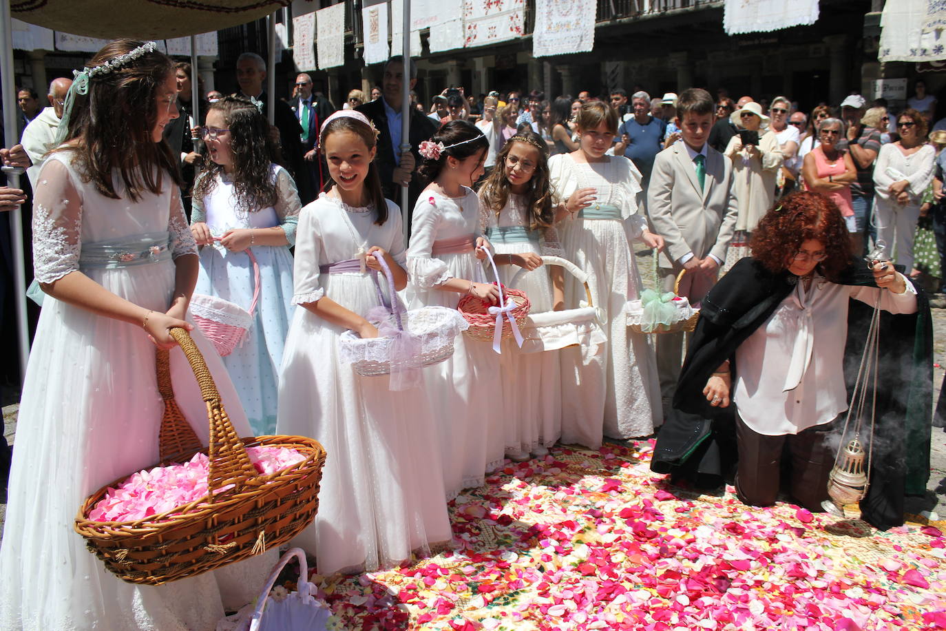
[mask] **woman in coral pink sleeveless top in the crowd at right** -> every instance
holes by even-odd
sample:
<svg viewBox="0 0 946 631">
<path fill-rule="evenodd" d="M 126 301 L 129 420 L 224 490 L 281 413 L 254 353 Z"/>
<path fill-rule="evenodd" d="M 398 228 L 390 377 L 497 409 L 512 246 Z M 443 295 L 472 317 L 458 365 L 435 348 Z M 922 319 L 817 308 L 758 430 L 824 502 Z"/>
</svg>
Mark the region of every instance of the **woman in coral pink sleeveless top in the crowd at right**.
<svg viewBox="0 0 946 631">
<path fill-rule="evenodd" d="M 850 153 L 837 148 L 837 141 L 844 135 L 844 123 L 825 118 L 818 122 L 817 133 L 821 144 L 805 154 L 801 168 L 805 189 L 828 197 L 841 209 L 848 231 L 857 232 L 850 199 L 850 184 L 857 180 L 857 170 Z"/>
</svg>

